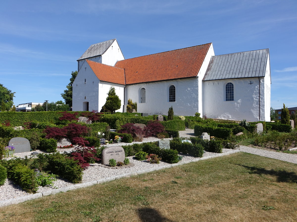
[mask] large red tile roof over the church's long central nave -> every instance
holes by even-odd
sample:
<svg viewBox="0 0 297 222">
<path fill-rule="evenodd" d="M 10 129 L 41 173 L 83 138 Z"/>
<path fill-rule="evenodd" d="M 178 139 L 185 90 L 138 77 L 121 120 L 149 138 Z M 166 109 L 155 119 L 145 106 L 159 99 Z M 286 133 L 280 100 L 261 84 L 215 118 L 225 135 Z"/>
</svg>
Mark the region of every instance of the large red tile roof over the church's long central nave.
<svg viewBox="0 0 297 222">
<path fill-rule="evenodd" d="M 126 84 L 196 77 L 210 45 L 125 59 L 115 67 L 125 69 Z"/>
</svg>

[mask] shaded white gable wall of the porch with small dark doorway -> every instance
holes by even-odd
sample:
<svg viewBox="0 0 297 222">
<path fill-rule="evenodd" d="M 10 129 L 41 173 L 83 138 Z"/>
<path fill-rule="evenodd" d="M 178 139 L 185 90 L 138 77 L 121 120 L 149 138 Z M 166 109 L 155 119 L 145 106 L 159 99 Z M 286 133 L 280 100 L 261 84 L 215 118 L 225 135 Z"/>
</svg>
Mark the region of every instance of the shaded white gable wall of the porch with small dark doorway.
<svg viewBox="0 0 297 222">
<path fill-rule="evenodd" d="M 86 102 L 89 102 L 89 111 L 98 110 L 98 84 L 99 79 L 89 64 L 84 62 L 72 84 L 73 111 L 85 111 Z"/>
</svg>

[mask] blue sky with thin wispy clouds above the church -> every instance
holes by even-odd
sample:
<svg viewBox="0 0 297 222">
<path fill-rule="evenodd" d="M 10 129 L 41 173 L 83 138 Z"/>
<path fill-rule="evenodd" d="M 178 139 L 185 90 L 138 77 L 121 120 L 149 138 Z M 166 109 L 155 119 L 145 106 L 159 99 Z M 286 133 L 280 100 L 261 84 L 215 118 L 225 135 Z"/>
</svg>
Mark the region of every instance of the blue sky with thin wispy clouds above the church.
<svg viewBox="0 0 297 222">
<path fill-rule="evenodd" d="M 116 38 L 128 59 L 212 42 L 216 55 L 269 48 L 271 106 L 296 107 L 296 12 L 296 0 L 3 1 L 0 83 L 15 105 L 56 102 L 91 44 Z"/>
</svg>

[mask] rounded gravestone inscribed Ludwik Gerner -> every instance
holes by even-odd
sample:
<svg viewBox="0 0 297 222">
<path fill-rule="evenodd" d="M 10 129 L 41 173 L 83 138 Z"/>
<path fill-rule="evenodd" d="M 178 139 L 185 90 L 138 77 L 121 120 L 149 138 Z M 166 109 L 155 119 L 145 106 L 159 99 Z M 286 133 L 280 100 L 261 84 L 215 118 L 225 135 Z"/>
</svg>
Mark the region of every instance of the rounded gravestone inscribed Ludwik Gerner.
<svg viewBox="0 0 297 222">
<path fill-rule="evenodd" d="M 110 159 L 115 159 L 116 162 L 124 162 L 125 151 L 123 147 L 112 146 L 112 147 L 107 147 L 103 149 L 101 163 L 103 165 L 108 165 Z"/>
</svg>

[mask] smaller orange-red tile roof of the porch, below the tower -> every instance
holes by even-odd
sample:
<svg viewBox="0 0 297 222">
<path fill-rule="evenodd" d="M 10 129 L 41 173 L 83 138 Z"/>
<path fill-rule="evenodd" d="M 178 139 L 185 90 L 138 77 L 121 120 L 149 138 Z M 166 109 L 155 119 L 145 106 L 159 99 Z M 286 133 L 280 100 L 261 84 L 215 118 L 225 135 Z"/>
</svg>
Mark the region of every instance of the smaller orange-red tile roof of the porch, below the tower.
<svg viewBox="0 0 297 222">
<path fill-rule="evenodd" d="M 125 85 L 124 69 L 86 59 L 100 81 Z"/>
</svg>

